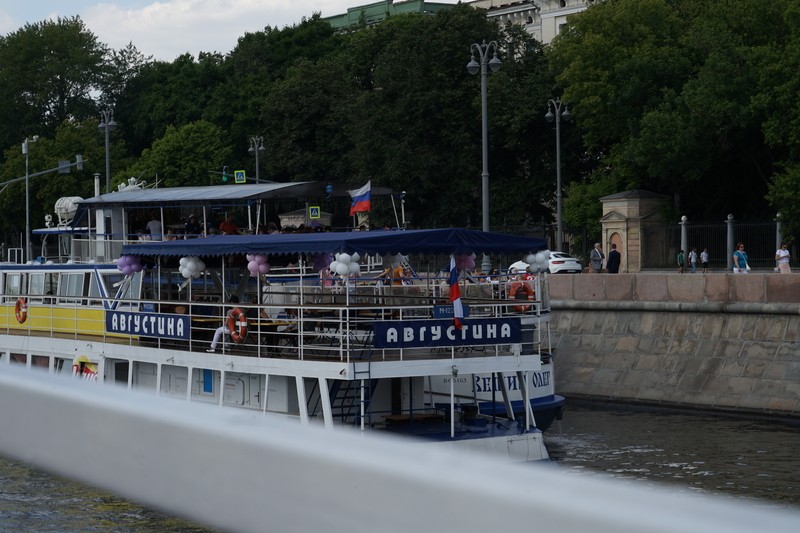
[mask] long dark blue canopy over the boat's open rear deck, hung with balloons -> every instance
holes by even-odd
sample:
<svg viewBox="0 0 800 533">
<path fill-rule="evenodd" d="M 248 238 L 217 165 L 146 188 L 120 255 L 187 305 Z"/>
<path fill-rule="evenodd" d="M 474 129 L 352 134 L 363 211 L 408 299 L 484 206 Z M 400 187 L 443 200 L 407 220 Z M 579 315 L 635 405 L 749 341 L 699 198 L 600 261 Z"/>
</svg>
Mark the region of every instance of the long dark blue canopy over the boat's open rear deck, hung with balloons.
<svg viewBox="0 0 800 533">
<path fill-rule="evenodd" d="M 459 228 L 409 231 L 353 231 L 273 233 L 270 235 L 215 235 L 204 239 L 128 244 L 123 255 L 222 256 L 236 254 L 318 254 L 345 252 L 360 255 L 528 253 L 547 248 L 545 239 Z"/>
</svg>

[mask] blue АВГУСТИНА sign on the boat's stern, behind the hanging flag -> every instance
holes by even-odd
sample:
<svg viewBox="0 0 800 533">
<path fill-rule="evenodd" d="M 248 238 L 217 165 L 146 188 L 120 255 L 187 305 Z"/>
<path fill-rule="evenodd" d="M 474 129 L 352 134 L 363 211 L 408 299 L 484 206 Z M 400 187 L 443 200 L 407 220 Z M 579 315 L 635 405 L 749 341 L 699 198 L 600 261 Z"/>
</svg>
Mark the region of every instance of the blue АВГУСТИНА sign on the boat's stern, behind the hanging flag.
<svg viewBox="0 0 800 533">
<path fill-rule="evenodd" d="M 517 344 L 520 329 L 519 318 L 465 320 L 460 330 L 452 320 L 392 320 L 373 325 L 376 348 Z"/>
</svg>

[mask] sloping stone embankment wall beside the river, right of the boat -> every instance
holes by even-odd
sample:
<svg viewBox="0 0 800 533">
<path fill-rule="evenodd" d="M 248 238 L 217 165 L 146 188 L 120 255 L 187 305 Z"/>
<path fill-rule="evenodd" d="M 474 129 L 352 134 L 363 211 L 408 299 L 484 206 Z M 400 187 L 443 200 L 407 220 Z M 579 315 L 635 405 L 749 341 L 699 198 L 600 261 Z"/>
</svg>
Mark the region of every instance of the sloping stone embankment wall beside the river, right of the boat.
<svg viewBox="0 0 800 533">
<path fill-rule="evenodd" d="M 800 418 L 800 274 L 549 279 L 561 394 Z"/>
</svg>

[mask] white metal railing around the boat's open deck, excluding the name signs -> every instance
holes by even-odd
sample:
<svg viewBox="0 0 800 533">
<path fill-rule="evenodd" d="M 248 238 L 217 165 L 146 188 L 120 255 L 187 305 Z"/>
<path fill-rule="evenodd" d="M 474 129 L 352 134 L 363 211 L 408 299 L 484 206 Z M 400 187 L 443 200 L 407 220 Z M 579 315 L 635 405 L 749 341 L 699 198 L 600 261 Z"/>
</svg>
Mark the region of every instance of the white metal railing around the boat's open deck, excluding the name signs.
<svg viewBox="0 0 800 533">
<path fill-rule="evenodd" d="M 28 319 L 19 324 L 13 314 L 14 301 L 19 295 L 0 295 L 6 304 L 5 323 L 0 331 L 23 330 L 29 335 L 50 337 L 95 337 L 115 343 L 137 344 L 174 349 L 201 351 L 209 348 L 216 330 L 225 328 L 218 351 L 232 355 L 286 358 L 325 358 L 350 362 L 352 358 L 369 356 L 373 360 L 400 359 L 413 356 L 414 349 L 375 350 L 372 343 L 373 325 L 382 321 L 403 321 L 432 318 L 434 305 L 447 305 L 447 287 L 434 282 L 425 285 L 374 287 L 359 284 L 353 287 L 325 287 L 306 285 L 272 285 L 269 292 L 249 295 L 250 303 L 225 303 L 202 301 L 202 294 L 181 300 L 117 300 L 117 310 L 147 309 L 153 313 L 177 314 L 189 318 L 188 339 L 174 340 L 147 335 L 109 335 L 103 305 L 110 298 L 94 296 L 48 296 L 49 304 L 40 297 L 31 296 Z M 545 313 L 539 300 L 505 300 L 502 286 L 481 283 L 466 285 L 464 300 L 474 318 L 507 316 L 541 319 Z M 269 301 L 265 298 L 271 298 Z M 221 296 L 212 295 L 210 300 Z M 262 303 L 253 300 L 262 299 Z M 521 306 L 521 307 L 520 307 Z M 514 308 L 525 308 L 524 311 Z M 234 342 L 228 335 L 228 312 L 239 308 L 247 317 L 246 335 Z M 241 329 L 244 321 L 235 319 L 233 329 Z M 549 338 L 542 338 L 543 328 L 536 323 L 523 325 L 530 335 L 532 347 L 526 353 L 547 351 Z M 543 348 L 544 346 L 544 348 Z M 466 358 L 499 355 L 513 352 L 511 344 L 476 345 L 472 350 L 446 349 L 443 357 Z M 428 350 L 429 352 L 429 350 Z"/>
</svg>

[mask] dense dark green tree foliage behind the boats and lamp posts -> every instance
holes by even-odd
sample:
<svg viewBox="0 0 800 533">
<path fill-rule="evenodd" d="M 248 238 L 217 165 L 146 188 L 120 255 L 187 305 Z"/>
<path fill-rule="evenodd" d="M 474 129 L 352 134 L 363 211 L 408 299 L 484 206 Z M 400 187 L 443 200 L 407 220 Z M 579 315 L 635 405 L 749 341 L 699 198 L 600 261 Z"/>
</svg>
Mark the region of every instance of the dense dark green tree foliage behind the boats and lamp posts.
<svg viewBox="0 0 800 533">
<path fill-rule="evenodd" d="M 0 180 L 24 174 L 20 144 L 40 135 L 31 171 L 87 159 L 81 172 L 31 181 L 32 219 L 104 174 L 100 109 L 111 108 L 113 183 L 219 183 L 223 166 L 274 181 L 367 180 L 407 192 L 414 225 L 481 225 L 480 76 L 470 45 L 500 44 L 488 76 L 491 225 L 551 223 L 554 125 L 561 97 L 564 217 L 599 230 L 603 195 L 631 188 L 674 199 L 691 220 L 772 218 L 800 207 L 800 6 L 792 0 L 603 0 L 543 47 L 458 5 L 334 33 L 318 14 L 244 34 L 227 55 L 154 61 L 108 49 L 79 18 L 0 37 Z M 744 194 L 743 194 L 744 193 Z M 24 195 L 0 193 L 7 242 Z M 376 222 L 391 220 L 377 203 Z"/>
</svg>

